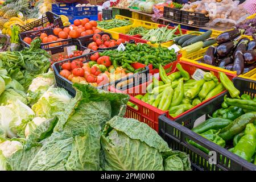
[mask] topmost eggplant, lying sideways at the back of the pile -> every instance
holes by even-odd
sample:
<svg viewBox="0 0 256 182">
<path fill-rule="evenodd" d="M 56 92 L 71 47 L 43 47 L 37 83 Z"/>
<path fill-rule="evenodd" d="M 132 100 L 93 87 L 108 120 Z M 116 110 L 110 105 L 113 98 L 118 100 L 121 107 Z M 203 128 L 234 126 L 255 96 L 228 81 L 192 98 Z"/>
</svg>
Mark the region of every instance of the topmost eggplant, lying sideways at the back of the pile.
<svg viewBox="0 0 256 182">
<path fill-rule="evenodd" d="M 217 41 L 218 44 L 222 44 L 222 43 L 225 43 L 225 42 L 232 41 L 232 40 L 234 40 L 234 38 L 241 35 L 241 33 L 243 31 L 244 30 L 234 29 L 234 30 L 223 32 L 222 34 L 217 36 L 216 41 Z"/>
</svg>

